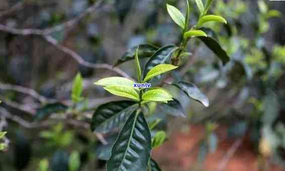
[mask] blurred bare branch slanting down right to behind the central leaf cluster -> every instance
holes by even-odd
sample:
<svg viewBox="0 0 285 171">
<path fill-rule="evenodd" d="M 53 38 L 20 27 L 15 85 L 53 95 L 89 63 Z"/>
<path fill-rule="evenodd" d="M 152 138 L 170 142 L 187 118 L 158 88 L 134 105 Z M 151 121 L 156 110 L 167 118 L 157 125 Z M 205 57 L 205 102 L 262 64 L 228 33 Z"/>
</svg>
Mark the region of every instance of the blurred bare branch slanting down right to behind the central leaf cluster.
<svg viewBox="0 0 285 171">
<path fill-rule="evenodd" d="M 85 61 L 78 53 L 76 53 L 72 49 L 69 49 L 65 46 L 58 44 L 58 42 L 51 36 L 43 36 L 43 38 L 47 42 L 49 42 L 50 44 L 54 45 L 58 50 L 70 55 L 71 57 L 73 57 L 79 64 L 81 64 L 83 66 L 86 66 L 89 68 L 94 68 L 94 69 L 108 69 L 108 70 L 111 70 L 111 71 L 118 73 L 121 76 L 132 79 L 126 72 L 122 71 L 121 69 L 119 69 L 117 67 L 113 67 L 112 65 L 105 64 L 105 63 L 94 64 L 94 63 Z"/>
</svg>

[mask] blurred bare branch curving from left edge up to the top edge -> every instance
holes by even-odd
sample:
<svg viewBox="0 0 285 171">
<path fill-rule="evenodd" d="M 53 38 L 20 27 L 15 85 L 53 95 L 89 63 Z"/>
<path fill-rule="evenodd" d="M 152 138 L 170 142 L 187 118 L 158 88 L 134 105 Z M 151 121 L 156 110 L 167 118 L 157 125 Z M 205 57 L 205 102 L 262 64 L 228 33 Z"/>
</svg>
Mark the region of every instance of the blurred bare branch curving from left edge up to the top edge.
<svg viewBox="0 0 285 171">
<path fill-rule="evenodd" d="M 23 36 L 27 36 L 27 35 L 48 35 L 48 34 L 51 34 L 53 32 L 60 31 L 66 27 L 72 27 L 72 26 L 76 25 L 83 18 L 85 18 L 86 16 L 88 16 L 89 14 L 91 14 L 95 10 L 97 10 L 101 6 L 102 3 L 103 3 L 103 0 L 99 0 L 93 6 L 86 9 L 79 16 L 77 16 L 77 17 L 75 17 L 69 21 L 66 21 L 64 23 L 61 23 L 59 25 L 56 25 L 54 27 L 50 27 L 50 28 L 46 28 L 46 29 L 16 29 L 16 28 L 11 28 L 11 27 L 5 26 L 3 24 L 0 24 L 0 31 L 4 31 L 7 33 L 11 33 L 11 34 L 23 35 Z"/>
</svg>

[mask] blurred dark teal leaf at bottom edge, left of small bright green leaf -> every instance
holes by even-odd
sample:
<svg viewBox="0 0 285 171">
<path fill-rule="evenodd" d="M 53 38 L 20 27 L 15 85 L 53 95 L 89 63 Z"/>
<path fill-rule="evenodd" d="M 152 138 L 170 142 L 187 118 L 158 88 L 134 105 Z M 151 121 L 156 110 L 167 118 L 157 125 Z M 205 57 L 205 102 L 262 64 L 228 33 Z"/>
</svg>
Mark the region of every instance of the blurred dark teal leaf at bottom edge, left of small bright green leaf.
<svg viewBox="0 0 285 171">
<path fill-rule="evenodd" d="M 68 154 L 58 150 L 51 159 L 51 171 L 68 171 Z"/>
</svg>

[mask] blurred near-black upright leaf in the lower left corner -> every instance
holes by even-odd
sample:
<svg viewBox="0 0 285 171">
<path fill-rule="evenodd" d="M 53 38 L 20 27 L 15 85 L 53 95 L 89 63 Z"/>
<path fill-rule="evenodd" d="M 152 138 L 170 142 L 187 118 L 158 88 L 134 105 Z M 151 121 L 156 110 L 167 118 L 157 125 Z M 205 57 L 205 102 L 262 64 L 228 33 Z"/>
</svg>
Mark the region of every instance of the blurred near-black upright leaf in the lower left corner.
<svg viewBox="0 0 285 171">
<path fill-rule="evenodd" d="M 15 167 L 22 170 L 27 167 L 32 155 L 31 142 L 22 132 L 17 132 L 14 149 Z"/>
</svg>

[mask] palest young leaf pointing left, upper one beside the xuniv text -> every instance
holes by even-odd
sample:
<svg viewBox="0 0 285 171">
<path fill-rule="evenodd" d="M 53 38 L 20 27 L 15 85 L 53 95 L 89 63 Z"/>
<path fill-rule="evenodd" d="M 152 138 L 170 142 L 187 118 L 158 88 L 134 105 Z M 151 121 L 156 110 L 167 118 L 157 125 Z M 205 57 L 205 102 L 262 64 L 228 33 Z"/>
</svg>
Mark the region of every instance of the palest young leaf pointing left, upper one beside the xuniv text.
<svg viewBox="0 0 285 171">
<path fill-rule="evenodd" d="M 112 76 L 108 78 L 103 78 L 103 79 L 100 79 L 94 82 L 94 84 L 102 85 L 103 87 L 106 87 L 109 85 L 125 85 L 127 87 L 133 87 L 133 83 L 134 81 L 129 80 L 124 77 L 120 77 L 120 76 Z"/>
</svg>

